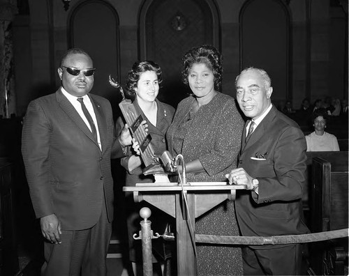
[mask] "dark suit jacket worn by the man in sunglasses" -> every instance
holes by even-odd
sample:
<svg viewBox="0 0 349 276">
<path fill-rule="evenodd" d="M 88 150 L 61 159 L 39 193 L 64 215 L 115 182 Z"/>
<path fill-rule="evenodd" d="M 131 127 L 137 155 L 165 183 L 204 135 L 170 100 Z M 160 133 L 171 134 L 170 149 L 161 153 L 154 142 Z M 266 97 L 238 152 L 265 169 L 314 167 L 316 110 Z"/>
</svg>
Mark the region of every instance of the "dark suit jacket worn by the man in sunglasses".
<svg viewBox="0 0 349 276">
<path fill-rule="evenodd" d="M 89 94 L 102 151 L 73 105 L 59 89 L 29 103 L 22 155 L 36 217 L 56 214 L 63 230 L 88 229 L 107 205 L 113 219 L 110 158 L 121 157 L 110 102 Z"/>
</svg>

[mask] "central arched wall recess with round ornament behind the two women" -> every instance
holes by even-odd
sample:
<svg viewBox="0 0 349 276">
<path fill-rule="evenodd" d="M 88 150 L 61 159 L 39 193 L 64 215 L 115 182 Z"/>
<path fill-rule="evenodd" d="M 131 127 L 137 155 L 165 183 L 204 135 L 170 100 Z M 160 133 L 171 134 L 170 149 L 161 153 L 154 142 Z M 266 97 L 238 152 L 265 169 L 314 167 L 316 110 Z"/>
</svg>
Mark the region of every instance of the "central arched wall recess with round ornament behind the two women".
<svg viewBox="0 0 349 276">
<path fill-rule="evenodd" d="M 206 1 L 154 0 L 145 17 L 144 59 L 163 70 L 158 98 L 177 106 L 188 88 L 181 83 L 181 58 L 191 47 L 214 43 L 214 26 Z M 142 46 L 141 46 L 142 47 Z"/>
</svg>

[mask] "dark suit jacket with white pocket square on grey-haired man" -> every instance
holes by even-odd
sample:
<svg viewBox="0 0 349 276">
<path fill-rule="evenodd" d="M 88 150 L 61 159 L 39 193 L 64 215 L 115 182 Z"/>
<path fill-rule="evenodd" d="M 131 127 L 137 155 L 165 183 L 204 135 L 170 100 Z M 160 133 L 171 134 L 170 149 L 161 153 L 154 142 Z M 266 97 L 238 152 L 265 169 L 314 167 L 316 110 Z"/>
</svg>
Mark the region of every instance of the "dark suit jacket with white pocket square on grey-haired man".
<svg viewBox="0 0 349 276">
<path fill-rule="evenodd" d="M 307 233 L 302 219 L 306 140 L 297 123 L 272 107 L 246 146 L 246 128 L 242 137 L 238 167 L 259 181 L 258 196 L 248 190 L 237 192 L 235 204 L 242 235 Z M 265 160 L 256 160 L 256 153 L 266 153 Z"/>
</svg>

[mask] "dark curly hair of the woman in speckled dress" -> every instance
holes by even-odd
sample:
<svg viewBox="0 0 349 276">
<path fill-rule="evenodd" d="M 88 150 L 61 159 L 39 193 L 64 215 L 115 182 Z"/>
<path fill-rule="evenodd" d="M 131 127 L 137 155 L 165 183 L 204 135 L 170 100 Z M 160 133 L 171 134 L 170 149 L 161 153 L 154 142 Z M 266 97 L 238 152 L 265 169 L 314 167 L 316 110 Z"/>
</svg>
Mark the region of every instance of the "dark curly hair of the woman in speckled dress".
<svg viewBox="0 0 349 276">
<path fill-rule="evenodd" d="M 212 45 L 202 45 L 200 47 L 193 47 L 183 56 L 183 70 L 181 77 L 184 84 L 188 84 L 189 70 L 195 63 L 204 63 L 207 68 L 214 73 L 214 89 L 221 90 L 222 76 L 223 76 L 223 56 Z"/>
</svg>

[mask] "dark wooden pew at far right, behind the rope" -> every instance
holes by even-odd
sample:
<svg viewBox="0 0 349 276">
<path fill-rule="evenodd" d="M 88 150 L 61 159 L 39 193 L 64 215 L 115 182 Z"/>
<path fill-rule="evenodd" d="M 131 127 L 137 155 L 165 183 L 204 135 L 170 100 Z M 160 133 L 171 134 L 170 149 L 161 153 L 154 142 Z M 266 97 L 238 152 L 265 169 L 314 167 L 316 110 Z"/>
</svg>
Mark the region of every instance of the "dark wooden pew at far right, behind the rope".
<svg viewBox="0 0 349 276">
<path fill-rule="evenodd" d="M 348 152 L 320 155 L 312 158 L 311 165 L 311 231 L 346 229 L 349 227 Z M 312 243 L 310 252 L 313 275 L 346 275 L 348 238 Z"/>
</svg>

